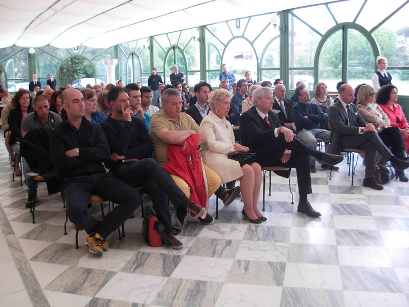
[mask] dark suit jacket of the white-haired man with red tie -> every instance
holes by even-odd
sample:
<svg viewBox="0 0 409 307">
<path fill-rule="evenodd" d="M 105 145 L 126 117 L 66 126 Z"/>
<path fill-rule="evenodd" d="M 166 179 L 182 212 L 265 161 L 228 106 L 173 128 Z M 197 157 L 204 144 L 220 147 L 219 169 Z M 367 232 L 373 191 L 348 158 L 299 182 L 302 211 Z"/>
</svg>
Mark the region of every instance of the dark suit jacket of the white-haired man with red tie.
<svg viewBox="0 0 409 307">
<path fill-rule="evenodd" d="M 283 156 L 282 150 L 277 150 L 274 129 L 281 127 L 277 115 L 267 113 L 271 127 L 260 117 L 255 106 L 241 115 L 240 133 L 244 146 L 257 151 L 257 159 L 261 165 L 274 165 Z"/>
</svg>

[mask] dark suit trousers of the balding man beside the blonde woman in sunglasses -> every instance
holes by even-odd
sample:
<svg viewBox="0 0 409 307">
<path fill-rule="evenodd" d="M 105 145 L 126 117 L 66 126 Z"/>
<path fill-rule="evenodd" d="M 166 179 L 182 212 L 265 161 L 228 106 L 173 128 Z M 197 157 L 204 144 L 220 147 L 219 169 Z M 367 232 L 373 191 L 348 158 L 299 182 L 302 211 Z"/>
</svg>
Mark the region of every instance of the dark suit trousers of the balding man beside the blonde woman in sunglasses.
<svg viewBox="0 0 409 307">
<path fill-rule="evenodd" d="M 341 137 L 341 148 L 359 148 L 365 151 L 365 178 L 374 178 L 376 151 L 383 160 L 388 161 L 392 158 L 392 152 L 388 149 L 378 134 L 372 131 L 364 132 L 360 135 L 343 135 Z"/>
</svg>

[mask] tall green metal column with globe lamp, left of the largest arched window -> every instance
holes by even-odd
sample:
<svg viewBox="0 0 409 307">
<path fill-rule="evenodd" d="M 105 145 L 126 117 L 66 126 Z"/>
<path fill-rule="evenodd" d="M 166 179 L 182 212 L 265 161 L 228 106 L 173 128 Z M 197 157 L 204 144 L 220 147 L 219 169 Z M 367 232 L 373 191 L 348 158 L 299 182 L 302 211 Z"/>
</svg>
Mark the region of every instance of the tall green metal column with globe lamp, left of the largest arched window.
<svg viewBox="0 0 409 307">
<path fill-rule="evenodd" d="M 289 23 L 288 23 L 288 16 L 289 10 L 281 11 L 280 12 L 280 77 L 283 79 L 284 84 L 286 85 L 287 89 L 289 89 L 289 74 L 288 74 L 288 67 L 289 67 L 289 55 L 288 55 L 288 47 L 290 43 L 289 38 Z M 260 73 L 259 73 L 260 74 Z M 259 76 L 259 80 L 260 80 Z"/>
</svg>

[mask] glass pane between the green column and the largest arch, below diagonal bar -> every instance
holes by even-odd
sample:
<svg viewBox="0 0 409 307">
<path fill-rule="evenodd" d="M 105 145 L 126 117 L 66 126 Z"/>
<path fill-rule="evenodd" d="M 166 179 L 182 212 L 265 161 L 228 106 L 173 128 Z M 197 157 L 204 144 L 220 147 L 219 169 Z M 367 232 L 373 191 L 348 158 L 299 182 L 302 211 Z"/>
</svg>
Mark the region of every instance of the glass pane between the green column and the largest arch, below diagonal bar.
<svg viewBox="0 0 409 307">
<path fill-rule="evenodd" d="M 292 15 L 290 15 L 289 24 L 290 67 L 313 67 L 315 51 L 321 36 Z"/>
</svg>

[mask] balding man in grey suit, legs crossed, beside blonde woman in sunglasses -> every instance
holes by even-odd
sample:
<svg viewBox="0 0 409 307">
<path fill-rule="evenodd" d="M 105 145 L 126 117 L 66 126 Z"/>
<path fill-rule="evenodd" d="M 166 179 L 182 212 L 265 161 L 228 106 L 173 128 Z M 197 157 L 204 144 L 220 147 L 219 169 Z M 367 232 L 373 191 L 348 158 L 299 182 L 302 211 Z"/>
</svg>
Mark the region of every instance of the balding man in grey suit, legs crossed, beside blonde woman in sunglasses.
<svg viewBox="0 0 409 307">
<path fill-rule="evenodd" d="M 354 89 L 349 84 L 339 87 L 339 101 L 329 108 L 331 126 L 331 153 L 339 154 L 342 148 L 365 150 L 365 179 L 362 185 L 376 190 L 383 187 L 374 180 L 376 151 L 385 161 L 391 161 L 395 169 L 409 167 L 409 162 L 396 158 L 376 133 L 373 124 L 367 123 L 359 114 L 354 101 Z"/>
</svg>

